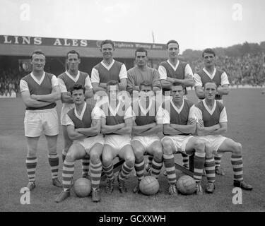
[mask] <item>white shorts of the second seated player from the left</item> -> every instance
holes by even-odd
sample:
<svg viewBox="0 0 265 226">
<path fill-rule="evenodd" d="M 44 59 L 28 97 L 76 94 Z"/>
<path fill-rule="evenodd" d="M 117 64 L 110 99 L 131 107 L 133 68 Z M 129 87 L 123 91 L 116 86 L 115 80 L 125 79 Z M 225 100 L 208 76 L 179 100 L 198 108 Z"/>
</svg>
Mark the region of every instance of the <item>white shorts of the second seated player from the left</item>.
<svg viewBox="0 0 265 226">
<path fill-rule="evenodd" d="M 131 136 L 129 135 L 106 135 L 105 145 L 110 145 L 119 152 L 125 145 L 131 145 Z"/>
</svg>

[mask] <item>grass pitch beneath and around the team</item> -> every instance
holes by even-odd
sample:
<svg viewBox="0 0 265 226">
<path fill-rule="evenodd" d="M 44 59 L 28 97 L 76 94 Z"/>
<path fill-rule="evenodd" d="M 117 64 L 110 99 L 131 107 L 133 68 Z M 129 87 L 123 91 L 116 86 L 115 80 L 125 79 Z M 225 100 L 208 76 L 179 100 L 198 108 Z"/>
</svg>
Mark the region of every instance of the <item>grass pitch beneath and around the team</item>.
<svg viewBox="0 0 265 226">
<path fill-rule="evenodd" d="M 189 91 L 189 99 L 196 100 L 194 91 Z M 0 99 L 0 211 L 264 211 L 265 210 L 265 96 L 261 89 L 231 89 L 224 99 L 228 112 L 229 138 L 242 143 L 244 161 L 244 179 L 254 187 L 253 191 L 243 191 L 242 205 L 232 204 L 232 165 L 230 153 L 225 153 L 221 165 L 225 176 L 216 176 L 216 190 L 204 196 L 182 196 L 174 198 L 167 195 L 167 179 L 160 174 L 162 192 L 155 196 L 133 194 L 137 179 L 130 174 L 127 180 L 128 194 L 117 190 L 117 179 L 113 194 L 102 192 L 102 201 L 93 203 L 91 198 L 77 198 L 71 191 L 71 197 L 62 203 L 54 199 L 61 189 L 52 186 L 51 173 L 47 157 L 45 136 L 41 136 L 38 145 L 36 188 L 30 194 L 30 205 L 20 204 L 20 189 L 28 184 L 25 169 L 27 143 L 24 137 L 23 118 L 25 107 L 20 98 Z M 61 109 L 57 102 L 58 113 Z M 61 132 L 61 131 L 60 131 Z M 61 179 L 61 133 L 57 150 L 60 157 L 59 179 Z M 180 155 L 175 157 L 180 161 Z M 177 171 L 177 177 L 182 174 Z M 81 162 L 76 162 L 74 179 L 81 177 Z M 206 178 L 203 178 L 203 187 Z M 101 191 L 105 182 L 101 182 Z"/>
</svg>

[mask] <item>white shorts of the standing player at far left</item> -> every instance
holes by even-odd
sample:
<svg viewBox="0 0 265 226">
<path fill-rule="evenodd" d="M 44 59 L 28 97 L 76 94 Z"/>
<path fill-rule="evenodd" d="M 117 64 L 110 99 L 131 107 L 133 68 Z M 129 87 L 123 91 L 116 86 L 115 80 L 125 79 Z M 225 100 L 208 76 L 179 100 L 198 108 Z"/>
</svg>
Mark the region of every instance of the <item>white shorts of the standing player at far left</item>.
<svg viewBox="0 0 265 226">
<path fill-rule="evenodd" d="M 24 118 L 25 136 L 37 137 L 42 130 L 47 136 L 59 134 L 59 122 L 56 108 L 26 110 Z"/>
</svg>

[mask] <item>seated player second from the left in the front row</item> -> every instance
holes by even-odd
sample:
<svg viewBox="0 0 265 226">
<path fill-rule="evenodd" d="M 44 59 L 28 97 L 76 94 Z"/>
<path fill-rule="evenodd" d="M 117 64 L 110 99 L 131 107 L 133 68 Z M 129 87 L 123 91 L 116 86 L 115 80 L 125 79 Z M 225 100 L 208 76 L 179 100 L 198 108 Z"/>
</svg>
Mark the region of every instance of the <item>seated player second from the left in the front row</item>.
<svg viewBox="0 0 265 226">
<path fill-rule="evenodd" d="M 105 145 L 102 153 L 102 166 L 107 175 L 106 191 L 112 193 L 114 189 L 114 172 L 112 160 L 119 157 L 125 162 L 117 177 L 119 191 L 127 191 L 125 179 L 134 169 L 134 151 L 131 148 L 131 129 L 133 126 L 133 114 L 130 97 L 126 102 L 118 100 L 119 83 L 109 81 L 107 83 L 107 102 L 100 108 L 103 110 L 101 133 L 105 134 Z M 125 105 L 124 105 L 125 104 Z"/>
</svg>

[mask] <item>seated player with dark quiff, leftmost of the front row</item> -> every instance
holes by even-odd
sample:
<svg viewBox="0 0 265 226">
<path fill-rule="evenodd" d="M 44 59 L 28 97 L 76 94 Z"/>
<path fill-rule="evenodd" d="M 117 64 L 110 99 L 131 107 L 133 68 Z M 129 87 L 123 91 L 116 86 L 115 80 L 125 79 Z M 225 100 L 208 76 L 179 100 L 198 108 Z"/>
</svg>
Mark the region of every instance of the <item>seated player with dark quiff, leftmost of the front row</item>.
<svg viewBox="0 0 265 226">
<path fill-rule="evenodd" d="M 71 88 L 71 97 L 75 107 L 66 114 L 66 129 L 69 138 L 73 141 L 63 165 L 63 188 L 64 191 L 57 196 L 57 203 L 64 201 L 70 196 L 73 185 L 74 162 L 90 156 L 90 172 L 92 184 L 92 200 L 100 201 L 100 178 L 104 138 L 100 134 L 101 114 L 98 107 L 88 105 L 85 101 L 85 88 L 83 85 L 74 84 Z"/>
</svg>

